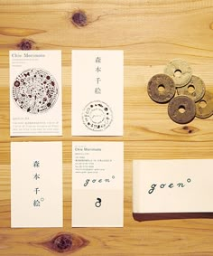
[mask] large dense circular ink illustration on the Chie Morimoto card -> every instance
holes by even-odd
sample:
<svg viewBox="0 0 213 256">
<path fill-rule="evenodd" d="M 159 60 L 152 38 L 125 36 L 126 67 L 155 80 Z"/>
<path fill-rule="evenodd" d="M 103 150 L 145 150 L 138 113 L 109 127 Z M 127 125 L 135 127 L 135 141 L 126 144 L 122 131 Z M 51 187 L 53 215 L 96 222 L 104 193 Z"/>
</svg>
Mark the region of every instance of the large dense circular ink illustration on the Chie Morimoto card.
<svg viewBox="0 0 213 256">
<path fill-rule="evenodd" d="M 48 71 L 33 68 L 20 73 L 14 81 L 14 101 L 19 108 L 31 114 L 51 109 L 58 95 L 58 83 Z"/>
</svg>

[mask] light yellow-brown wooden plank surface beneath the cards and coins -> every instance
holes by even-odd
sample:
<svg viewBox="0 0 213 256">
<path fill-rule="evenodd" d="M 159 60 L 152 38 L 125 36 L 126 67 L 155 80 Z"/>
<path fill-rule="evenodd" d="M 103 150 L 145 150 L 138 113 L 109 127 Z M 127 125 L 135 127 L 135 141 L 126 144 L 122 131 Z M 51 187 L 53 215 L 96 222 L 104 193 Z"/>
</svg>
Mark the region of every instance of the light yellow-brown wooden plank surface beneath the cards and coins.
<svg viewBox="0 0 213 256">
<path fill-rule="evenodd" d="M 83 26 L 72 22 L 79 10 L 87 16 Z M 15 49 L 62 50 L 62 137 L 10 137 L 8 52 Z M 70 136 L 73 49 L 124 50 L 124 137 Z M 169 119 L 166 104 L 147 95 L 147 81 L 175 58 L 189 62 L 213 92 L 212 0 L 0 1 L 1 255 L 213 255 L 212 219 L 139 223 L 132 216 L 133 159 L 213 157 L 213 117 L 181 126 Z M 11 229 L 10 142 L 45 140 L 63 141 L 64 227 Z M 71 228 L 73 140 L 125 142 L 124 228 Z"/>
</svg>

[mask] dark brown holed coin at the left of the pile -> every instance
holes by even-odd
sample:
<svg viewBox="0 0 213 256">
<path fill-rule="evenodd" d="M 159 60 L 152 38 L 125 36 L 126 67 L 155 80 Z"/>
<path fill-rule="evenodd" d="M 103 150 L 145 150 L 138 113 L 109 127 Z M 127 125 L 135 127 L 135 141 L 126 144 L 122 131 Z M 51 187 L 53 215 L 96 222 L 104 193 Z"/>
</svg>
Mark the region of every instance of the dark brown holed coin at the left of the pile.
<svg viewBox="0 0 213 256">
<path fill-rule="evenodd" d="M 147 92 L 158 103 L 168 102 L 175 94 L 174 81 L 168 75 L 156 74 L 148 82 Z"/>
</svg>

